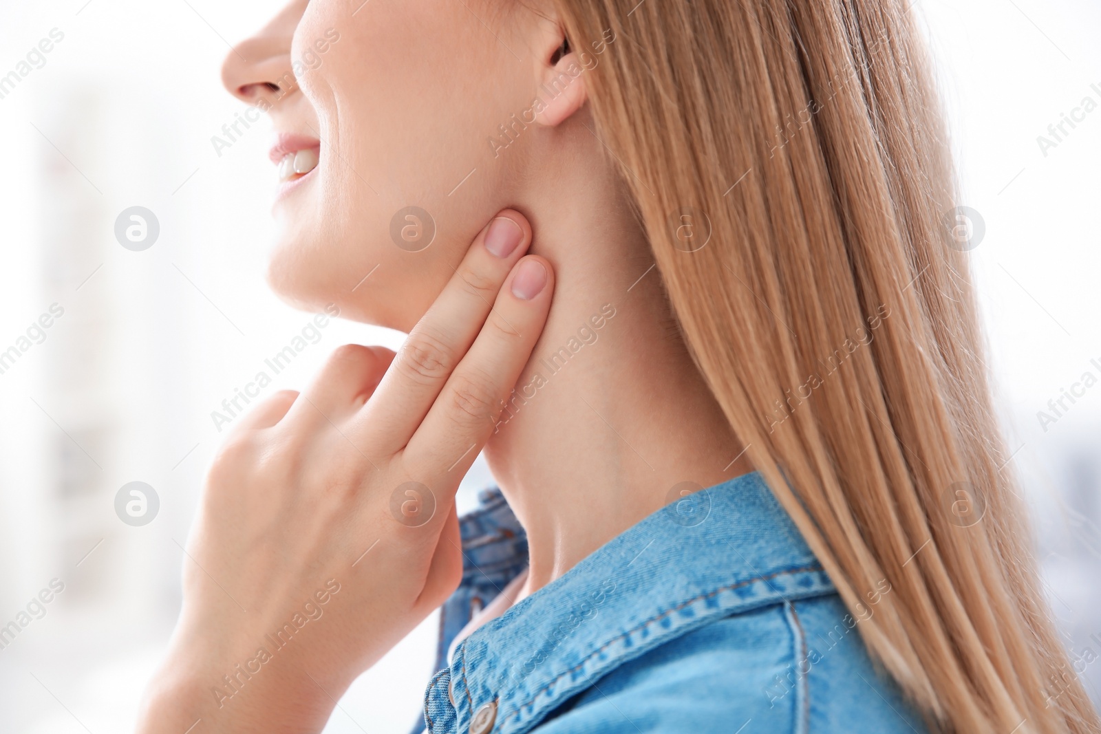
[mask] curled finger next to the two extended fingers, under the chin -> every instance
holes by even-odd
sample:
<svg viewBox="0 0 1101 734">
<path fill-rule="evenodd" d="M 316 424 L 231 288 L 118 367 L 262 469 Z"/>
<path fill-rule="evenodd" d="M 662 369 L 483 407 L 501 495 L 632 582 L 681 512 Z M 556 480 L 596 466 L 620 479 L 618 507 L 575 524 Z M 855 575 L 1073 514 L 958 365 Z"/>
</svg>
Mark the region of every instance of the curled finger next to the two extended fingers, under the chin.
<svg viewBox="0 0 1101 734">
<path fill-rule="evenodd" d="M 320 424 L 346 421 L 367 403 L 393 357 L 382 347 L 337 347 L 291 406 L 284 423 L 308 430 Z"/>
</svg>

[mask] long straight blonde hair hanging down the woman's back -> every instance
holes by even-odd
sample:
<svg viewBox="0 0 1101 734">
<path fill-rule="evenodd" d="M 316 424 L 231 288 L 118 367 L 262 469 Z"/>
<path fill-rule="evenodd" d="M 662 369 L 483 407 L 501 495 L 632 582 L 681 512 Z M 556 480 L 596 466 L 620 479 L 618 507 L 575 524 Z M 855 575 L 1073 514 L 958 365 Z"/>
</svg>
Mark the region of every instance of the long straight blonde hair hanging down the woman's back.
<svg viewBox="0 0 1101 734">
<path fill-rule="evenodd" d="M 595 132 L 873 657 L 934 730 L 1101 731 L 1039 592 L 909 0 L 557 2 L 574 48 L 614 33 Z"/>
</svg>

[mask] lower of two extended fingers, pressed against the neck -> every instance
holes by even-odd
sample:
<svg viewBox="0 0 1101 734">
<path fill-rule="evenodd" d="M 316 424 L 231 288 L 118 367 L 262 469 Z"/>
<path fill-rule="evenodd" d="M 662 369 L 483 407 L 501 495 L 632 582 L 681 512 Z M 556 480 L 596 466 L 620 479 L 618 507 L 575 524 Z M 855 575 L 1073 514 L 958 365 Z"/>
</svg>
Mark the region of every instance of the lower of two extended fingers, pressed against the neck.
<svg viewBox="0 0 1101 734">
<path fill-rule="evenodd" d="M 406 468 L 426 472 L 421 481 L 446 485 L 470 468 L 531 358 L 553 292 L 545 259 L 528 255 L 513 269 L 486 326 L 402 452 Z"/>
</svg>

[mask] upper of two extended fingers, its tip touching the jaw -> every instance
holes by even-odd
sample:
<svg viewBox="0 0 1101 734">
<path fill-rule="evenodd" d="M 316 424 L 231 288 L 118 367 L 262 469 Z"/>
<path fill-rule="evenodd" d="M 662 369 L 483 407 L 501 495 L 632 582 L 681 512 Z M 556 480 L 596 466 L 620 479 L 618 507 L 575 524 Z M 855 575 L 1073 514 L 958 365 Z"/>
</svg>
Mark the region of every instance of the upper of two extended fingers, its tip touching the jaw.
<svg viewBox="0 0 1101 734">
<path fill-rule="evenodd" d="M 505 209 L 475 238 L 466 256 L 410 332 L 374 397 L 357 419 L 369 446 L 396 453 L 421 425 L 492 308 L 501 284 L 527 250 L 531 226 Z"/>
</svg>

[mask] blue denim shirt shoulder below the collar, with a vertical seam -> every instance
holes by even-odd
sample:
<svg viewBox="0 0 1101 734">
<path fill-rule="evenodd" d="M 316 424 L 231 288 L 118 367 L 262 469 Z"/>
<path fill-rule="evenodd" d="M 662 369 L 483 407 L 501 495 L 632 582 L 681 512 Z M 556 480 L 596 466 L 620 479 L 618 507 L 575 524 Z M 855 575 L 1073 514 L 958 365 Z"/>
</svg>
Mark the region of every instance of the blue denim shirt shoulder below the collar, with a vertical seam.
<svg viewBox="0 0 1101 734">
<path fill-rule="evenodd" d="M 837 594 L 716 620 L 595 681 L 536 731 L 925 732 Z"/>
</svg>

